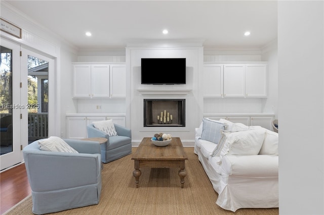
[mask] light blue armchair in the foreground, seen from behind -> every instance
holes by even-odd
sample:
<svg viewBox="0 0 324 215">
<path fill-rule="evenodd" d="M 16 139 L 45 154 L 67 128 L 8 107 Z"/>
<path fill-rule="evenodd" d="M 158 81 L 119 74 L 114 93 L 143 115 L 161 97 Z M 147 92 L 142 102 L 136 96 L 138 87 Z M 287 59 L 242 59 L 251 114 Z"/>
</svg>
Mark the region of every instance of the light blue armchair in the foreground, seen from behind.
<svg viewBox="0 0 324 215">
<path fill-rule="evenodd" d="M 79 153 L 40 150 L 37 141 L 23 149 L 32 195 L 32 212 L 35 214 L 99 203 L 100 144 L 71 139 L 64 141 Z"/>
</svg>

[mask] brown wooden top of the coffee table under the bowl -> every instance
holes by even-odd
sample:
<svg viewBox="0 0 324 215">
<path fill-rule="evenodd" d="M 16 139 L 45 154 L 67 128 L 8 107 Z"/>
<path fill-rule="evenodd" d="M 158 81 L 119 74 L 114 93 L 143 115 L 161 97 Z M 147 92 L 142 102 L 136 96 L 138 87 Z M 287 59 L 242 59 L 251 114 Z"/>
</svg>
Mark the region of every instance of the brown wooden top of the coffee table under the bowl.
<svg viewBox="0 0 324 215">
<path fill-rule="evenodd" d="M 172 137 L 167 146 L 156 146 L 150 137 L 144 137 L 132 159 L 134 160 L 187 160 L 179 137 Z"/>
</svg>

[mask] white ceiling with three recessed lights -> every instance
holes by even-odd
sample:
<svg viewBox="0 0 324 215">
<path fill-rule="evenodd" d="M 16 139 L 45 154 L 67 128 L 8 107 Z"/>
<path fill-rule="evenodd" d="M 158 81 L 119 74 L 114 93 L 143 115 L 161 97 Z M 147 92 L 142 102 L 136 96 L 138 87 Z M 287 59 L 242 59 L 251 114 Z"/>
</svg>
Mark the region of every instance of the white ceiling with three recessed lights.
<svg viewBox="0 0 324 215">
<path fill-rule="evenodd" d="M 121 49 L 143 40 L 261 48 L 277 38 L 276 1 L 5 2 L 78 49 Z M 164 29 L 169 33 L 163 34 Z M 246 31 L 251 35 L 244 36 Z"/>
</svg>

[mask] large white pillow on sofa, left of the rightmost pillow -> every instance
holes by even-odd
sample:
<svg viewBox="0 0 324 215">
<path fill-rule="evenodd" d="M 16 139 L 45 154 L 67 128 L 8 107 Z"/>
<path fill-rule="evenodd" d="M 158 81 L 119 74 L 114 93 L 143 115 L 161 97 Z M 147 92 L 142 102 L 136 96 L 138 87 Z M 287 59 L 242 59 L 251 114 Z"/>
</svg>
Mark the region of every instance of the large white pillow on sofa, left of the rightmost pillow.
<svg viewBox="0 0 324 215">
<path fill-rule="evenodd" d="M 226 154 L 257 155 L 262 147 L 264 136 L 264 129 L 228 133 L 220 157 Z"/>
</svg>

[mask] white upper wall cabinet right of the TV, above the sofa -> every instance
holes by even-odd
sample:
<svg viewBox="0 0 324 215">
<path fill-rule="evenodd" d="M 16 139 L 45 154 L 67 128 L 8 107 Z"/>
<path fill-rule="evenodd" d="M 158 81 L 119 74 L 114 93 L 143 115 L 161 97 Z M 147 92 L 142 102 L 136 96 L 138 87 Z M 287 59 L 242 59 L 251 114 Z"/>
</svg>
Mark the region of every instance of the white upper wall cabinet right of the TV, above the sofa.
<svg viewBox="0 0 324 215">
<path fill-rule="evenodd" d="M 204 65 L 204 97 L 266 97 L 267 64 Z"/>
</svg>

